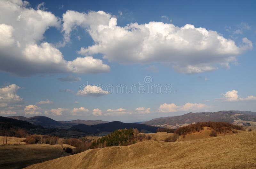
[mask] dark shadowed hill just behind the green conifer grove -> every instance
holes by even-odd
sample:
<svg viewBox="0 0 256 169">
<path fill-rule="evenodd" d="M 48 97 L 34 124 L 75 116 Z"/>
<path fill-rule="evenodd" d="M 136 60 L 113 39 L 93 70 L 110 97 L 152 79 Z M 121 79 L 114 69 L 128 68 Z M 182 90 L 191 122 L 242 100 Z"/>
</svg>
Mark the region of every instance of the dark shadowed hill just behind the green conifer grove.
<svg viewBox="0 0 256 169">
<path fill-rule="evenodd" d="M 103 131 L 107 132 L 113 132 L 118 129 L 130 129 L 130 128 L 137 128 L 138 130 L 143 130 L 144 132 L 156 132 L 156 129 L 158 127 L 149 126 L 146 124 L 138 124 L 138 123 L 123 123 L 123 122 L 109 122 L 109 123 L 103 123 L 103 124 L 96 124 L 96 125 L 85 125 L 85 124 L 78 124 L 73 127 L 71 127 L 69 130 L 76 130 L 76 131 L 82 131 L 85 133 L 99 133 Z"/>
</svg>

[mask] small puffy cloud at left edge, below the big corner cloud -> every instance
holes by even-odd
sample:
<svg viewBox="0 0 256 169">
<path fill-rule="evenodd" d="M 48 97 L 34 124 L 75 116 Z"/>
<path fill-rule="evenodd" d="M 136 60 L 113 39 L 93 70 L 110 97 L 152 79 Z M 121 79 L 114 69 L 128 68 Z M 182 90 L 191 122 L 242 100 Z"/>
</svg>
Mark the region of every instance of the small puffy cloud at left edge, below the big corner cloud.
<svg viewBox="0 0 256 169">
<path fill-rule="evenodd" d="M 16 84 L 0 88 L 0 107 L 22 103 L 23 99 L 16 93 L 18 89 L 20 89 L 20 87 Z"/>
</svg>

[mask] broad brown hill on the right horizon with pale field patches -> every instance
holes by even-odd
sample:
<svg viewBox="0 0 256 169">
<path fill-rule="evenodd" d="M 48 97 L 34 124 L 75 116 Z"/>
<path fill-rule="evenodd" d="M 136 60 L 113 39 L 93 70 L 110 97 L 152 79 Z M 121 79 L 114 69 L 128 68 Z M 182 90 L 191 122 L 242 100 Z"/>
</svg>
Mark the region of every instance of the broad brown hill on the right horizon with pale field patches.
<svg viewBox="0 0 256 169">
<path fill-rule="evenodd" d="M 143 122 L 143 124 L 176 129 L 180 126 L 186 126 L 190 123 L 207 121 L 228 122 L 237 125 L 250 126 L 254 124 L 253 122 L 256 122 L 256 112 L 231 110 L 218 111 L 213 113 L 187 113 L 182 116 L 155 118 L 148 122 Z"/>
</svg>

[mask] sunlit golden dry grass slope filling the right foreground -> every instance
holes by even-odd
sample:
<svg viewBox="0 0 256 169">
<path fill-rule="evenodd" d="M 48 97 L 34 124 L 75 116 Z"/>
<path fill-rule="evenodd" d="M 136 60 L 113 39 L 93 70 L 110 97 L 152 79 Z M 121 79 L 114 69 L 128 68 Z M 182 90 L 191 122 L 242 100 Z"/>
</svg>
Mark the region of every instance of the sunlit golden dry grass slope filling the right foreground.
<svg viewBox="0 0 256 169">
<path fill-rule="evenodd" d="M 27 168 L 256 168 L 256 132 L 91 149 Z"/>
</svg>

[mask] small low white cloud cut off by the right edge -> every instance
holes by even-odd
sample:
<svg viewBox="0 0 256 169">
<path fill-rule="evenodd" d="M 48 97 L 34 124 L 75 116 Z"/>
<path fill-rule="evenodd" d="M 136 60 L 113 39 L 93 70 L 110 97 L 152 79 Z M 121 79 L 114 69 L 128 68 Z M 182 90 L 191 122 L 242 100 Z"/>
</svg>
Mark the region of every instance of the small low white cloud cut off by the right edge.
<svg viewBox="0 0 256 169">
<path fill-rule="evenodd" d="M 239 101 L 256 101 L 256 96 L 247 96 L 245 98 L 240 97 L 237 90 L 226 92 L 221 98 L 225 102 L 239 102 Z"/>
</svg>

